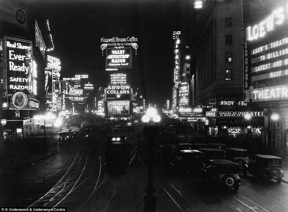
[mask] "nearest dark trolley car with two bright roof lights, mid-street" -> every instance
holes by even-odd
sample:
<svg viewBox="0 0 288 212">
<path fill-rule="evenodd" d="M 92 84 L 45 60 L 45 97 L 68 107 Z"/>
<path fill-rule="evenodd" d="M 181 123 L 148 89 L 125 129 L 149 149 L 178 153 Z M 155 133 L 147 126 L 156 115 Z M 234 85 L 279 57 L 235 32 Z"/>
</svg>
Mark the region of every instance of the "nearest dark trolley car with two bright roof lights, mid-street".
<svg viewBox="0 0 288 212">
<path fill-rule="evenodd" d="M 137 137 L 131 133 L 117 133 L 105 143 L 108 170 L 128 171 L 137 153 Z"/>
</svg>

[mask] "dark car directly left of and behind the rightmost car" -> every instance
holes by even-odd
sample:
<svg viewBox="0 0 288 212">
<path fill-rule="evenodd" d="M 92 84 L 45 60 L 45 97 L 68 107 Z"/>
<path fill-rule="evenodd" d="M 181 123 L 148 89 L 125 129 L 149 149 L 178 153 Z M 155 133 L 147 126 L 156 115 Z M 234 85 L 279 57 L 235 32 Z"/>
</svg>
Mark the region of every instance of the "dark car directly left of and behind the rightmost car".
<svg viewBox="0 0 288 212">
<path fill-rule="evenodd" d="M 248 150 L 240 148 L 226 148 L 225 159 L 238 163 L 240 168 L 247 167 Z"/>
</svg>

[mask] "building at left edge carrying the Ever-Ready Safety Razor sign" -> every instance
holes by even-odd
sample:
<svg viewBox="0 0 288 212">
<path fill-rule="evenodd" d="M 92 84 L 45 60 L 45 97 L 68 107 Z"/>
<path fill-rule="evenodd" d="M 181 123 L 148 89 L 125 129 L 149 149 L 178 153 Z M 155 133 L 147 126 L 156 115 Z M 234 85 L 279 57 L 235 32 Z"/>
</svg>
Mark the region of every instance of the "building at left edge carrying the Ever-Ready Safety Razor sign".
<svg viewBox="0 0 288 212">
<path fill-rule="evenodd" d="M 32 120 L 34 115 L 44 112 L 45 50 L 42 33 L 37 21 L 27 13 L 27 8 L 6 2 L 0 7 L 1 16 L 1 83 L 0 99 L 1 139 L 22 139 L 39 130 Z M 11 9 L 12 8 L 12 9 Z M 18 15 L 16 16 L 16 13 Z M 16 19 L 15 17 L 19 17 Z M 40 110 L 40 111 L 39 111 Z"/>
</svg>

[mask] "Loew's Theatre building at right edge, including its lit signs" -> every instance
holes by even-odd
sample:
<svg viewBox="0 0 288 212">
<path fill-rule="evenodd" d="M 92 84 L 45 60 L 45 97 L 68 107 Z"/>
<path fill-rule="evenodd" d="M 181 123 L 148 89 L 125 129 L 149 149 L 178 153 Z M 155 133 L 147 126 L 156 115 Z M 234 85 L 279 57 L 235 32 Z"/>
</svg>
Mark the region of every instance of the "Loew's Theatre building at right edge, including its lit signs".
<svg viewBox="0 0 288 212">
<path fill-rule="evenodd" d="M 285 0 L 244 0 L 244 92 L 265 111 L 262 144 L 287 154 L 288 5 Z"/>
</svg>

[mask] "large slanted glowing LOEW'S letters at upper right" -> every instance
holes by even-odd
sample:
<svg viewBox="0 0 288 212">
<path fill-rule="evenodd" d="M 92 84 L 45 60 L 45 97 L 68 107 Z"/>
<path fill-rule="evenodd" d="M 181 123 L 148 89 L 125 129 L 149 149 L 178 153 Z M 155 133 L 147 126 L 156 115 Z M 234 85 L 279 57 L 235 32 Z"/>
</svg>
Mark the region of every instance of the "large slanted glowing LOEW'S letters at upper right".
<svg viewBox="0 0 288 212">
<path fill-rule="evenodd" d="M 264 37 L 266 32 L 274 30 L 275 25 L 281 25 L 285 18 L 284 8 L 280 7 L 276 9 L 265 20 L 259 22 L 253 27 L 247 27 L 247 39 L 252 41 Z"/>
</svg>

